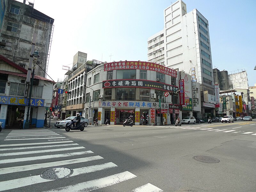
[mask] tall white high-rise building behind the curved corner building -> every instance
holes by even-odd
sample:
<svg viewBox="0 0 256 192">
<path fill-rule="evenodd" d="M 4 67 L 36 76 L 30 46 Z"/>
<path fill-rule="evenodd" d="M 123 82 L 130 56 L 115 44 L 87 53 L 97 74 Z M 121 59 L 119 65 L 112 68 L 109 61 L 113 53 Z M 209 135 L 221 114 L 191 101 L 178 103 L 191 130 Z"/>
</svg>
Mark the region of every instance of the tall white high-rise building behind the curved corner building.
<svg viewBox="0 0 256 192">
<path fill-rule="evenodd" d="M 200 83 L 201 92 L 214 95 L 208 20 L 196 9 L 187 13 L 183 1 L 164 10 L 164 30 L 148 38 L 148 61 L 184 71 Z M 207 102 L 201 100 L 203 117 L 214 114 L 214 105 Z"/>
</svg>

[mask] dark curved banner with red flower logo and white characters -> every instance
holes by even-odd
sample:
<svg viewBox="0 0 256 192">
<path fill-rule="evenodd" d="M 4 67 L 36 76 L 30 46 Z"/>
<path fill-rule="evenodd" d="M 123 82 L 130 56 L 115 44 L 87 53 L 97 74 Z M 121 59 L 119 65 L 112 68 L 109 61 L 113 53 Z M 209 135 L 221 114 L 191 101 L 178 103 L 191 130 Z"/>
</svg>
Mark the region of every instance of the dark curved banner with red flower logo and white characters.
<svg viewBox="0 0 256 192">
<path fill-rule="evenodd" d="M 113 87 L 140 87 L 140 88 L 153 88 L 159 89 L 166 92 L 175 92 L 178 90 L 177 86 L 165 84 L 158 81 L 149 81 L 142 79 L 115 79 L 107 80 L 102 82 L 102 88 L 113 88 Z"/>
</svg>

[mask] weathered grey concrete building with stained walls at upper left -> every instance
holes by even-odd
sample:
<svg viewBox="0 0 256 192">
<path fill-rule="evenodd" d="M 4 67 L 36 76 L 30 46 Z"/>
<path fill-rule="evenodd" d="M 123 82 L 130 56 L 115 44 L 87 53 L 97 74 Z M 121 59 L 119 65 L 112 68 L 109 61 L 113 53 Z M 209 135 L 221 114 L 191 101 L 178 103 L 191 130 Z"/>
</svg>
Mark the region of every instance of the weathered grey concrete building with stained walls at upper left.
<svg viewBox="0 0 256 192">
<path fill-rule="evenodd" d="M 53 21 L 51 17 L 34 9 L 34 4 L 8 0 L 2 4 L 0 54 L 28 69 L 33 34 L 36 33 L 35 49 L 39 51 L 35 74 L 46 77 L 51 50 Z M 45 71 L 45 72 L 44 72 Z"/>
</svg>

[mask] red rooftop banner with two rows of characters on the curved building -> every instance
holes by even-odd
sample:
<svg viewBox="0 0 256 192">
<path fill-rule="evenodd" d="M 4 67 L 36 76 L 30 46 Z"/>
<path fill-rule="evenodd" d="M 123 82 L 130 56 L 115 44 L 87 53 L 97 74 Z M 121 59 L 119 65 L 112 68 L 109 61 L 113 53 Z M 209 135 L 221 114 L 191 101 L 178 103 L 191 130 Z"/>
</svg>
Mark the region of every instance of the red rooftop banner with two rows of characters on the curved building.
<svg viewBox="0 0 256 192">
<path fill-rule="evenodd" d="M 177 71 L 151 62 L 139 62 L 139 61 L 119 61 L 104 64 L 104 71 L 110 70 L 126 70 L 126 69 L 143 69 L 150 71 L 157 71 L 172 77 L 177 77 Z"/>
</svg>

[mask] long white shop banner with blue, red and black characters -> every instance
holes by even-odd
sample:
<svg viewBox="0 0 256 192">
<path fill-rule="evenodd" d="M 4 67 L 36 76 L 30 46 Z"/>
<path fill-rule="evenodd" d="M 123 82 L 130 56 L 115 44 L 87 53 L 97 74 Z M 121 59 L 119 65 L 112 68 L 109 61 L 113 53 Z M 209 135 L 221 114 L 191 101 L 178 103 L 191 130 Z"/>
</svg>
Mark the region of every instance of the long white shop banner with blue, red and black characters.
<svg viewBox="0 0 256 192">
<path fill-rule="evenodd" d="M 148 101 L 99 101 L 99 107 L 120 107 L 120 108 L 160 108 L 159 102 L 148 102 Z M 161 103 L 162 109 L 168 109 L 167 103 Z M 124 109 L 120 109 L 124 110 Z M 129 110 L 130 111 L 130 110 Z"/>
</svg>

